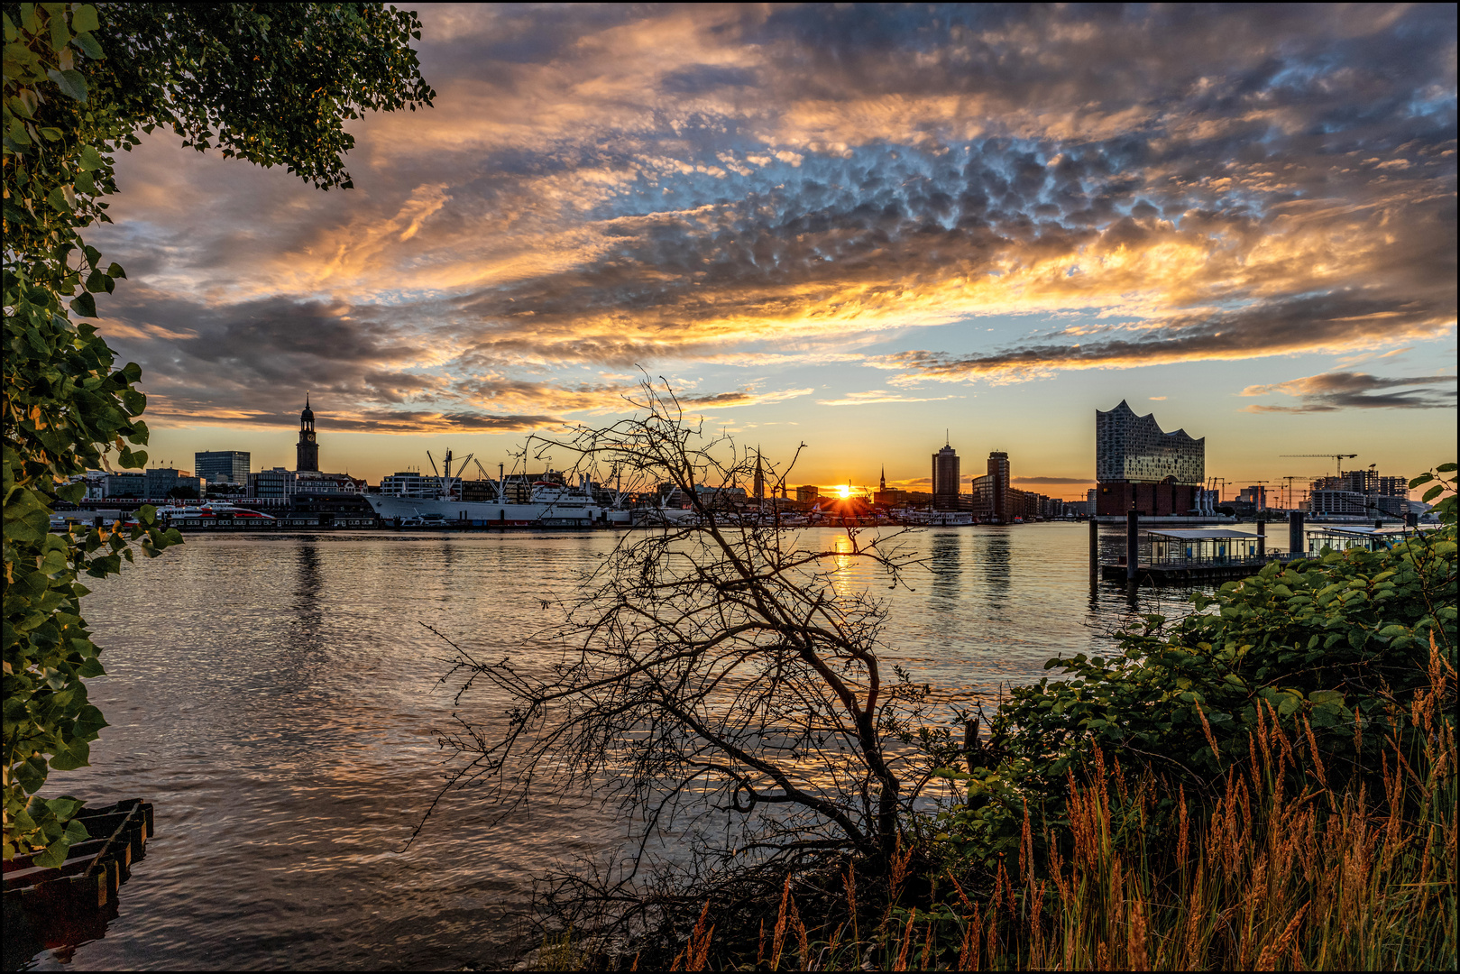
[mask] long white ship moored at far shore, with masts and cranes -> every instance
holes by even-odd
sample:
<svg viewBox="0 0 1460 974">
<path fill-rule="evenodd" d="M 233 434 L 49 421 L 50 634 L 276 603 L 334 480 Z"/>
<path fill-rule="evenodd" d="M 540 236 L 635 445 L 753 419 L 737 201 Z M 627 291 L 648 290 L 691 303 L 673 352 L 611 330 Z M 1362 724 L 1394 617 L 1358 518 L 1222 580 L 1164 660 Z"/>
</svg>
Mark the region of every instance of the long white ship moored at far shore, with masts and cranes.
<svg viewBox="0 0 1460 974">
<path fill-rule="evenodd" d="M 463 460 L 460 469 L 464 469 L 470 460 L 470 456 Z M 431 466 L 435 467 L 435 460 Z M 450 451 L 445 456 L 444 473 L 445 476 L 437 478 L 439 486 L 434 496 L 366 494 L 365 501 L 387 523 L 403 527 L 431 527 L 435 524 L 591 527 L 594 524 L 629 523 L 629 511 L 594 502 L 587 478 L 580 479 L 577 485 L 537 480 L 530 488 L 527 502 L 517 504 L 505 498 L 502 491 L 505 478 L 502 476 L 496 479 L 495 501 L 460 499 L 461 478 L 451 476 Z"/>
</svg>

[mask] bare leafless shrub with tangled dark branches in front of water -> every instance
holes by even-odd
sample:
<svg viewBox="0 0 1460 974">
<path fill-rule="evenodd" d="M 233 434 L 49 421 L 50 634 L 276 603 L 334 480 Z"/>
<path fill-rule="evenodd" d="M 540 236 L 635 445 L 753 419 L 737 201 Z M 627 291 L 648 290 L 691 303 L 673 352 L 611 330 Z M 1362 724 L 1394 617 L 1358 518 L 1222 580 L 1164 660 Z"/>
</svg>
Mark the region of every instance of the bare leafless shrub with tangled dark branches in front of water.
<svg viewBox="0 0 1460 974">
<path fill-rule="evenodd" d="M 527 454 L 566 453 L 575 475 L 677 491 L 688 508 L 625 532 L 530 654 L 486 662 L 454 647 L 458 702 L 482 691 L 512 702 L 496 735 L 458 718 L 442 736 L 453 783 L 493 789 L 504 808 L 543 791 L 618 805 L 637 824 L 625 879 L 670 828 L 720 835 L 695 845 L 701 863 L 785 869 L 826 850 L 886 862 L 927 781 L 898 743 L 926 688 L 879 660 L 885 607 L 866 590 L 867 577 L 905 584 L 918 564 L 902 532 L 793 527 L 774 496 L 734 488 L 759 466 L 774 495 L 794 457 L 775 464 L 707 435 L 667 384 L 644 383 L 631 402 L 632 419 L 534 438 Z"/>
</svg>

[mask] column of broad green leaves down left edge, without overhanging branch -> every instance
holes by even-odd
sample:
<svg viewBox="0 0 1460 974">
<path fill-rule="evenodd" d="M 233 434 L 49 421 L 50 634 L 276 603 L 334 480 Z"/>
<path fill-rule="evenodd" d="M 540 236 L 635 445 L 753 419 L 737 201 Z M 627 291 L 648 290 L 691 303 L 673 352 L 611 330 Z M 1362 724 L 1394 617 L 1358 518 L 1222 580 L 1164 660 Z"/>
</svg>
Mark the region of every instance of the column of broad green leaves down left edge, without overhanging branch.
<svg viewBox="0 0 1460 974">
<path fill-rule="evenodd" d="M 4 857 L 42 850 L 39 864 L 64 860 L 86 829 L 70 821 L 79 802 L 35 793 L 51 768 L 85 767 L 107 726 L 86 698 L 85 680 L 105 670 L 79 575 L 114 574 L 134 549 L 152 556 L 182 540 L 150 511 L 133 529 L 50 532 L 54 504 L 85 491 L 73 476 L 112 450 L 124 467 L 146 464 L 133 450 L 147 441 L 146 399 L 133 388 L 142 369 L 114 369 L 96 330 L 73 321 L 96 317 L 92 295 L 126 277 L 77 234 L 105 219 L 98 197 L 115 185 L 98 147 L 114 117 L 85 111 L 98 26 L 91 6 L 4 12 Z"/>
</svg>

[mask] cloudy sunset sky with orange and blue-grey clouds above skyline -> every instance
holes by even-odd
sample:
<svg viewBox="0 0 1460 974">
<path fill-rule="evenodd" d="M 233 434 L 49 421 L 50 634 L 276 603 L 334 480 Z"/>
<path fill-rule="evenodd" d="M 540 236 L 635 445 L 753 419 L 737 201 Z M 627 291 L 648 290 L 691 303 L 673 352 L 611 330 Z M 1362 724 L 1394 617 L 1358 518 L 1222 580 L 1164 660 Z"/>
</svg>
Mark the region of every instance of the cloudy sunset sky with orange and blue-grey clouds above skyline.
<svg viewBox="0 0 1460 974">
<path fill-rule="evenodd" d="M 645 377 L 796 483 L 1079 498 L 1123 399 L 1232 486 L 1454 459 L 1453 4 L 419 13 L 353 190 L 120 153 L 155 463 L 292 467 L 308 393 L 326 470 L 495 470 Z"/>
</svg>

